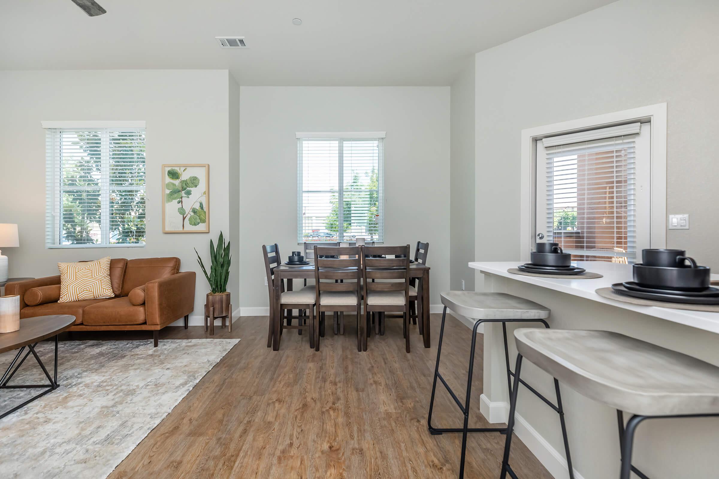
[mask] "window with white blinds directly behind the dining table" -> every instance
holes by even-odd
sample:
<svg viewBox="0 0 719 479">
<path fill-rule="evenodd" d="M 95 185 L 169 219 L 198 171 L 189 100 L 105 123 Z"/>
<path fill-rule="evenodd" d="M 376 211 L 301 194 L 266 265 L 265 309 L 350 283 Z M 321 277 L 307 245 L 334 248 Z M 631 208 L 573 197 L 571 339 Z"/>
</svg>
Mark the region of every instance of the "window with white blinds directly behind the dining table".
<svg viewBox="0 0 719 479">
<path fill-rule="evenodd" d="M 383 132 L 297 134 L 298 242 L 383 241 Z"/>
</svg>

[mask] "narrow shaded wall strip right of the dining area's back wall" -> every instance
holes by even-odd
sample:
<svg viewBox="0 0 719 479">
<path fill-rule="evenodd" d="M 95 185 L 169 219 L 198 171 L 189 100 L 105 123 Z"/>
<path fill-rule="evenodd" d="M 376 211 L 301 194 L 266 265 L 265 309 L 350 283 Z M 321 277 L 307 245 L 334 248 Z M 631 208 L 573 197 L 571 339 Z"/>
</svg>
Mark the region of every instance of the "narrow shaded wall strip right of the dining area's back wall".
<svg viewBox="0 0 719 479">
<path fill-rule="evenodd" d="M 450 275 L 452 289 L 475 291 L 475 56 L 450 88 Z"/>
</svg>

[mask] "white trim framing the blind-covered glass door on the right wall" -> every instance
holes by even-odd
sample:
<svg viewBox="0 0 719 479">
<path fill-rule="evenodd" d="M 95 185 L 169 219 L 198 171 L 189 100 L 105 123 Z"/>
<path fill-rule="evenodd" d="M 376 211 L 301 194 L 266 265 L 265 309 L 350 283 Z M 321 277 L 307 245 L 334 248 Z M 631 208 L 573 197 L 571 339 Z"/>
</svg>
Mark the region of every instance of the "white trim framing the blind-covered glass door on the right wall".
<svg viewBox="0 0 719 479">
<path fill-rule="evenodd" d="M 536 225 L 533 211 L 536 203 L 536 141 L 548 136 L 576 134 L 590 129 L 607 128 L 637 121 L 651 122 L 651 218 L 650 248 L 667 247 L 667 103 L 615 111 L 604 115 L 562 121 L 551 125 L 523 129 L 521 135 L 521 261 L 529 260 Z"/>
</svg>

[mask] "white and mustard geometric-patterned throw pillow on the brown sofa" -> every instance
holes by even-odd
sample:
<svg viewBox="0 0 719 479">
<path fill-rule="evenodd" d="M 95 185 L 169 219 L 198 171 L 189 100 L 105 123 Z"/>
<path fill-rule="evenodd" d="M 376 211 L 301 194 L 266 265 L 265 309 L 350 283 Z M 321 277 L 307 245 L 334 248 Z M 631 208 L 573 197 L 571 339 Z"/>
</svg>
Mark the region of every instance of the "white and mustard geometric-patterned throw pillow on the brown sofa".
<svg viewBox="0 0 719 479">
<path fill-rule="evenodd" d="M 110 256 L 85 263 L 58 263 L 60 300 L 82 301 L 114 297 L 110 282 Z"/>
</svg>

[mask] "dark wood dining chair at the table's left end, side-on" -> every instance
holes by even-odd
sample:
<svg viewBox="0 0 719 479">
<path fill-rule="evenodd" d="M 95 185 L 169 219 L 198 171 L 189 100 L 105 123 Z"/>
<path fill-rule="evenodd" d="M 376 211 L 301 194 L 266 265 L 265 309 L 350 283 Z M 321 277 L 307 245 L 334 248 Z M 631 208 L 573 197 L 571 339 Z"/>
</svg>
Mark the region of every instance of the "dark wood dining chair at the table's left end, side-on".
<svg viewBox="0 0 719 479">
<path fill-rule="evenodd" d="M 271 245 L 262 245 L 262 258 L 265 259 L 265 274 L 267 274 L 267 289 L 270 292 L 270 320 L 269 332 L 267 333 L 267 348 L 272 346 L 273 338 L 273 320 L 275 317 L 275 268 L 282 264 L 282 256 L 280 256 L 280 247 L 277 243 Z M 280 334 L 282 330 L 288 329 L 308 329 L 310 332 L 310 348 L 315 347 L 314 333 L 311 328 L 314 322 L 314 304 L 315 292 L 313 287 L 303 287 L 297 291 L 285 291 L 285 283 L 280 285 L 280 311 L 278 312 L 280 320 Z M 285 315 L 283 312 L 288 311 Z M 298 310 L 298 315 L 293 316 L 292 310 Z M 309 311 L 309 325 L 307 322 L 306 311 Z M 285 324 L 285 319 L 287 320 Z M 297 320 L 297 325 L 292 324 L 292 320 Z"/>
</svg>

